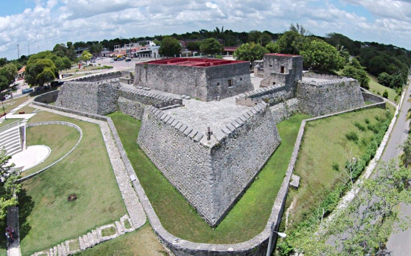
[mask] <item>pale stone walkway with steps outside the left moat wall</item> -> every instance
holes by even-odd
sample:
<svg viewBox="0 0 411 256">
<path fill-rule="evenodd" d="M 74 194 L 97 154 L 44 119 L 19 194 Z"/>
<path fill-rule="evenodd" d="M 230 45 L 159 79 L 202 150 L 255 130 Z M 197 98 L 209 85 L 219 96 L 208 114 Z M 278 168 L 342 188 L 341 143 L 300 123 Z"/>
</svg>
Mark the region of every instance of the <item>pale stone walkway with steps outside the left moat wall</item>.
<svg viewBox="0 0 411 256">
<path fill-rule="evenodd" d="M 26 104 L 24 104 L 23 106 L 25 106 L 25 105 Z M 34 108 L 37 108 L 39 110 L 48 111 L 48 112 L 55 113 L 55 114 L 58 114 L 58 115 L 67 116 L 67 117 L 74 118 L 74 119 L 77 119 L 77 120 L 86 121 L 86 122 L 90 122 L 90 123 L 93 123 L 93 124 L 98 124 L 100 126 L 100 130 L 101 130 L 101 133 L 103 135 L 103 139 L 104 139 L 104 142 L 105 142 L 105 145 L 106 145 L 106 149 L 107 149 L 107 152 L 109 154 L 110 162 L 111 162 L 112 167 L 113 167 L 114 175 L 115 175 L 118 187 L 120 189 L 121 196 L 123 197 L 124 204 L 126 205 L 127 212 L 130 216 L 130 217 L 127 216 L 127 215 L 123 216 L 122 219 L 127 218 L 128 221 L 130 222 L 130 226 L 132 227 L 133 230 L 141 227 L 142 225 L 144 225 L 144 223 L 146 222 L 146 215 L 144 213 L 144 210 L 141 206 L 140 201 L 138 200 L 137 194 L 136 194 L 135 190 L 133 189 L 133 187 L 130 183 L 130 178 L 127 174 L 127 170 L 124 166 L 123 161 L 121 160 L 120 152 L 118 151 L 118 149 L 115 145 L 113 135 L 111 133 L 111 130 L 110 130 L 107 122 L 99 121 L 99 120 L 96 120 L 96 119 L 92 119 L 92 118 L 88 118 L 88 117 L 84 117 L 84 116 L 79 116 L 79 115 L 75 115 L 75 114 L 70 114 L 70 113 L 66 113 L 66 112 L 61 112 L 61 111 L 57 111 L 57 110 L 53 110 L 53 109 L 49 109 L 49 108 L 45 108 L 45 107 L 39 107 L 39 106 L 34 106 L 34 105 L 30 105 L 30 107 L 34 107 Z M 18 212 L 14 213 L 14 214 L 10 214 L 10 215 L 18 216 Z M 17 222 L 18 222 L 18 217 L 17 217 Z M 124 220 L 123 220 L 123 222 L 124 222 Z M 120 219 L 120 222 L 116 221 L 114 224 L 109 224 L 109 225 L 97 228 L 94 233 L 93 232 L 89 233 L 90 235 L 87 234 L 87 235 L 80 236 L 78 238 L 79 244 L 80 244 L 80 250 L 85 250 L 87 248 L 90 248 L 90 247 L 94 246 L 97 243 L 100 243 L 102 241 L 106 241 L 106 240 L 109 240 L 109 239 L 113 239 L 113 238 L 117 237 L 118 235 L 123 235 L 126 232 L 130 232 L 130 231 L 127 231 L 127 229 L 125 228 L 123 222 Z M 115 234 L 111 235 L 111 236 L 101 236 L 101 230 L 106 229 L 106 228 L 110 228 L 110 227 L 115 228 L 115 230 L 116 230 Z M 98 239 L 95 239 L 96 234 L 97 234 Z M 100 236 L 98 234 L 100 234 Z M 48 256 L 70 255 L 72 253 L 77 252 L 75 250 L 71 251 L 69 249 L 69 243 L 71 243 L 75 240 L 76 239 L 68 240 L 65 243 L 56 245 L 55 247 L 50 248 L 47 251 L 42 251 L 42 252 L 36 253 L 35 255 L 48 255 Z M 17 249 L 18 251 L 17 250 L 13 250 L 13 251 L 10 251 L 10 252 L 8 251 L 7 255 L 8 256 L 20 256 L 21 255 L 21 254 L 19 254 L 20 253 L 20 244 L 17 243 L 16 247 L 18 248 Z"/>
</svg>

